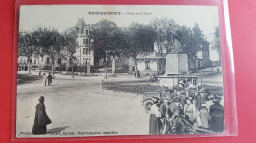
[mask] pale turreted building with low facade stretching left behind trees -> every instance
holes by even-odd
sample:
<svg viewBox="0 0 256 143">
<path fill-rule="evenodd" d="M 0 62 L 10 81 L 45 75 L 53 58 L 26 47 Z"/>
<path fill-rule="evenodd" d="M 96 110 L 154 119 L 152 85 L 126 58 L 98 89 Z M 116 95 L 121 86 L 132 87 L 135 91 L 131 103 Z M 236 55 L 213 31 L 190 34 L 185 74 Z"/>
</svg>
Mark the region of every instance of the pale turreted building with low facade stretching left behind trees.
<svg viewBox="0 0 256 143">
<path fill-rule="evenodd" d="M 94 65 L 94 52 L 91 49 L 92 39 L 90 38 L 90 24 L 86 24 L 83 18 L 78 18 L 77 24 L 72 27 L 71 30 L 74 30 L 77 34 L 76 40 L 78 43 L 73 62 L 77 66 L 86 66 L 87 63 Z M 47 55 L 44 57 L 35 57 L 32 55 L 29 61 L 27 57 L 19 56 L 17 62 L 19 66 L 30 65 L 31 67 L 41 67 L 42 69 L 50 69 L 52 65 L 52 60 Z M 69 64 L 70 58 L 68 56 L 55 57 L 55 67 L 68 67 Z"/>
</svg>

